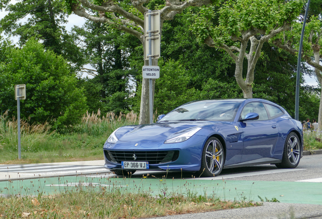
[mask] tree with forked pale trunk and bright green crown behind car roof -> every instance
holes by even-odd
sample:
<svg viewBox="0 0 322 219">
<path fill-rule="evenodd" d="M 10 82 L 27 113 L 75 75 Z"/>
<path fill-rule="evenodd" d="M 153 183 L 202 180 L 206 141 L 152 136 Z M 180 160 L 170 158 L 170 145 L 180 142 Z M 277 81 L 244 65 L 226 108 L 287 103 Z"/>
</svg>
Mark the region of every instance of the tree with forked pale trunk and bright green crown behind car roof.
<svg viewBox="0 0 322 219">
<path fill-rule="evenodd" d="M 245 98 L 253 97 L 254 70 L 263 44 L 289 29 L 299 15 L 301 1 L 228 0 L 217 14 L 203 8 L 191 27 L 200 43 L 226 51 L 233 59 L 235 79 Z M 243 62 L 248 60 L 246 77 Z"/>
</svg>

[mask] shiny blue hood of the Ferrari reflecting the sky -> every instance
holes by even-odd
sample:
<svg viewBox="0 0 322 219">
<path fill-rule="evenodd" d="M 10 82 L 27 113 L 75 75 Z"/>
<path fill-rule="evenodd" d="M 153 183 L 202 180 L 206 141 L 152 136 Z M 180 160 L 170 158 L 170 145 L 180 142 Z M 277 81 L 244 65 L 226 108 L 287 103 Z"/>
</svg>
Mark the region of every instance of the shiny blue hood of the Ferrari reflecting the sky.
<svg viewBox="0 0 322 219">
<path fill-rule="evenodd" d="M 209 122 L 171 122 L 153 123 L 149 125 L 124 126 L 119 128 L 115 135 L 120 141 L 160 141 L 170 136 L 177 136 L 189 129 L 203 127 Z"/>
</svg>

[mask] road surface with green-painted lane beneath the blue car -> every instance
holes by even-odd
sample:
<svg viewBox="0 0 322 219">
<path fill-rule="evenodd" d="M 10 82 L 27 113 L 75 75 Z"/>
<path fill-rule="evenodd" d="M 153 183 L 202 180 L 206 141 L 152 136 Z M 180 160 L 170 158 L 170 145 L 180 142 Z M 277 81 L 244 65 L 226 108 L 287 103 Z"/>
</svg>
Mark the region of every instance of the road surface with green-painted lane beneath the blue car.
<svg viewBox="0 0 322 219">
<path fill-rule="evenodd" d="M 137 171 L 127 178 L 102 168 L 104 161 L 32 165 L 0 165 L 0 196 L 44 195 L 87 187 L 171 195 L 188 192 L 222 200 L 272 200 L 261 207 L 175 215 L 166 218 L 320 218 L 322 219 L 322 155 L 304 156 L 295 169 L 259 165 L 224 169 L 217 177 L 193 173 Z M 76 172 L 77 171 L 77 172 Z M 144 176 L 149 173 L 147 178 Z M 77 176 L 75 176 L 77 174 Z M 10 175 L 10 178 L 9 178 Z M 153 176 L 152 176 L 153 175 Z M 10 180 L 9 180 L 10 179 Z M 16 180 L 15 180 L 16 179 Z M 22 189 L 23 188 L 23 189 Z M 26 189 L 28 188 L 28 189 Z"/>
</svg>

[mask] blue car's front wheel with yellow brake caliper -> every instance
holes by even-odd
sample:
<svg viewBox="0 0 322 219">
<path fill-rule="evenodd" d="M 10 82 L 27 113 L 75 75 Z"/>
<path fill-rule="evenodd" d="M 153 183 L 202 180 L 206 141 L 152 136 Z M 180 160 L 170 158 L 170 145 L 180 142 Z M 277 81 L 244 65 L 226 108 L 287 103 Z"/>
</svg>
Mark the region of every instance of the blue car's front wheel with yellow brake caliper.
<svg viewBox="0 0 322 219">
<path fill-rule="evenodd" d="M 200 176 L 211 177 L 221 173 L 225 162 L 225 151 L 220 140 L 210 137 L 203 149 L 201 167 L 198 171 Z"/>
</svg>

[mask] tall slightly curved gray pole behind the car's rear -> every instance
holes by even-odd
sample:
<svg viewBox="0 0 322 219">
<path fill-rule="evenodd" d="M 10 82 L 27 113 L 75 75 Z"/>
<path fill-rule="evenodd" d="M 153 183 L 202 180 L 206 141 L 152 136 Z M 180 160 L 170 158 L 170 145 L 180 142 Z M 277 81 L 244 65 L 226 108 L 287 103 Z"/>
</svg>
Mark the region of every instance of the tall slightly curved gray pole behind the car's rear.
<svg viewBox="0 0 322 219">
<path fill-rule="evenodd" d="M 310 6 L 310 0 L 307 1 L 307 5 L 306 5 L 304 20 L 303 20 L 303 26 L 302 26 L 301 39 L 300 39 L 299 54 L 298 54 L 298 59 L 297 59 L 296 91 L 295 91 L 295 119 L 296 120 L 299 120 L 301 56 L 302 56 L 304 29 L 305 29 L 306 17 L 307 17 L 309 6 Z"/>
</svg>

